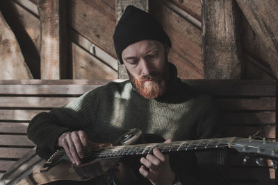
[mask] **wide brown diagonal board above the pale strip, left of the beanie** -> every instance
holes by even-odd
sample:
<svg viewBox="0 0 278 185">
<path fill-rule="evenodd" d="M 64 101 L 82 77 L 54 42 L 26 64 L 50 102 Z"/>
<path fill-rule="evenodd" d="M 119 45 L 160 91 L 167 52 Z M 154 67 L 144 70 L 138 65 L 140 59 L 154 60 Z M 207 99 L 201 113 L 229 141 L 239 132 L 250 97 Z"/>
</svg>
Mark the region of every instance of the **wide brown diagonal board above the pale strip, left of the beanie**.
<svg viewBox="0 0 278 185">
<path fill-rule="evenodd" d="M 71 17 L 67 24 L 79 32 L 90 42 L 95 43 L 109 55 L 116 57 L 112 38 L 116 21 L 104 13 L 104 9 L 111 11 L 111 6 L 103 3 L 101 10 L 90 6 L 87 1 L 73 0 L 69 2 Z M 93 4 L 93 1 L 92 1 Z"/>
</svg>

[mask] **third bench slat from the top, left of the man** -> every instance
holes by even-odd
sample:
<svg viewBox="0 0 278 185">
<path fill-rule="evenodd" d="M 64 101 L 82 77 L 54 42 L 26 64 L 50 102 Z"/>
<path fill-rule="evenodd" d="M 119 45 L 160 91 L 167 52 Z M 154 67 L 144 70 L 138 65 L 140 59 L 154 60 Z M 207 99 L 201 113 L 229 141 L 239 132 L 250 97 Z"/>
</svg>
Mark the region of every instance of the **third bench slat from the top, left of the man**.
<svg viewBox="0 0 278 185">
<path fill-rule="evenodd" d="M 0 120 L 10 121 L 30 121 L 35 115 L 42 110 L 23 110 L 23 109 L 0 109 Z"/>
</svg>

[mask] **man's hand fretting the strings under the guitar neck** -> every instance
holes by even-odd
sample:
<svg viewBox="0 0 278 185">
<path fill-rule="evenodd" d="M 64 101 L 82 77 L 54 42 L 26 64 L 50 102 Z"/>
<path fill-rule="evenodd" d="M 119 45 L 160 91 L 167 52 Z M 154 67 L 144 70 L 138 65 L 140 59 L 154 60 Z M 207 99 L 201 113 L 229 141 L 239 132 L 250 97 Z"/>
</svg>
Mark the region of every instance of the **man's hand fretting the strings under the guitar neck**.
<svg viewBox="0 0 278 185">
<path fill-rule="evenodd" d="M 171 139 L 165 141 L 165 143 L 170 142 L 172 142 Z M 144 165 L 139 169 L 140 174 L 149 179 L 152 184 L 170 185 L 174 183 L 175 175 L 170 167 L 169 155 L 163 155 L 158 148 L 154 148 L 153 155 L 148 154 L 146 157 L 142 157 L 140 162 Z"/>
</svg>

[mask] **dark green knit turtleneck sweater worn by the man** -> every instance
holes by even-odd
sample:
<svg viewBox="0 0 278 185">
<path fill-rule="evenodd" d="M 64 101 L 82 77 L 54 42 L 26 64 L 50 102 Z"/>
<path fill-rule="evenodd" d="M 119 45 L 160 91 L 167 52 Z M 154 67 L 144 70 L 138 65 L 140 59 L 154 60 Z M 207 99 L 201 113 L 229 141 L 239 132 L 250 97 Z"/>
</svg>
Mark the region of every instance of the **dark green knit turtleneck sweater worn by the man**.
<svg viewBox="0 0 278 185">
<path fill-rule="evenodd" d="M 56 150 L 60 134 L 72 130 L 85 130 L 90 140 L 98 142 L 111 142 L 111 134 L 129 128 L 173 141 L 205 139 L 220 133 L 218 118 L 211 97 L 181 82 L 174 70 L 163 96 L 148 100 L 129 80 L 109 82 L 65 107 L 38 114 L 27 134 L 38 148 L 51 151 Z"/>
</svg>

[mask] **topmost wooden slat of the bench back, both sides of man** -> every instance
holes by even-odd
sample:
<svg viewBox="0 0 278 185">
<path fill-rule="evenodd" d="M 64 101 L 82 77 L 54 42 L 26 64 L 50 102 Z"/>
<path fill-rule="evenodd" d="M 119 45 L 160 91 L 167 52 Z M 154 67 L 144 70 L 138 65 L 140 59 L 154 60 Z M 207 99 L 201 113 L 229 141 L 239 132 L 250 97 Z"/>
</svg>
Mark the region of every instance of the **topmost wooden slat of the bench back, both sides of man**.
<svg viewBox="0 0 278 185">
<path fill-rule="evenodd" d="M 0 94 L 79 95 L 107 82 L 108 80 L 0 80 Z M 275 80 L 183 80 L 183 82 L 213 96 L 276 96 Z"/>
</svg>

